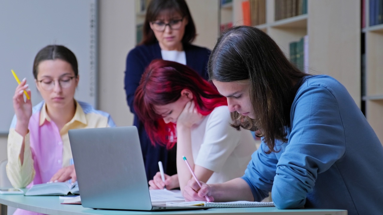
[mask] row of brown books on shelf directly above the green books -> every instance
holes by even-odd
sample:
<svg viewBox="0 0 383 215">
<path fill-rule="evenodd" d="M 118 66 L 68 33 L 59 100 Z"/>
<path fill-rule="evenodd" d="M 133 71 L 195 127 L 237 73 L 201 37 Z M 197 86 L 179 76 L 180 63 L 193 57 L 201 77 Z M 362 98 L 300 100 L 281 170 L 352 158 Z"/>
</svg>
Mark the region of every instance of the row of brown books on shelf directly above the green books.
<svg viewBox="0 0 383 215">
<path fill-rule="evenodd" d="M 275 0 L 275 21 L 307 13 L 307 0 Z"/>
</svg>

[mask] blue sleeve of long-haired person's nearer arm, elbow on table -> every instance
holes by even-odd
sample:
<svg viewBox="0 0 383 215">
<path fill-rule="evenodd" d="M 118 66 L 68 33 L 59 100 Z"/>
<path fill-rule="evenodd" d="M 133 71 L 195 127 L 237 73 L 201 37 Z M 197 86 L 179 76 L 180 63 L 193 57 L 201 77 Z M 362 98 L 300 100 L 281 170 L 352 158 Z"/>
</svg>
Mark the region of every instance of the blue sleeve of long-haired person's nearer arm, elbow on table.
<svg viewBox="0 0 383 215">
<path fill-rule="evenodd" d="M 345 153 L 337 99 L 323 86 L 298 91 L 291 107 L 291 133 L 280 154 L 272 188 L 277 208 L 300 208 L 323 173 Z"/>
</svg>

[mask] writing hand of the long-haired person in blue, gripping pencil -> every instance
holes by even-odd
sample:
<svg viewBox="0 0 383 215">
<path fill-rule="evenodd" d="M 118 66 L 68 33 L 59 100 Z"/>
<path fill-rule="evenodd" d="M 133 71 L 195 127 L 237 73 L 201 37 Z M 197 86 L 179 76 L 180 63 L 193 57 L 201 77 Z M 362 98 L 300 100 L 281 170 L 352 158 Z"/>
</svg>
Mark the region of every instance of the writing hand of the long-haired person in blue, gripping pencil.
<svg viewBox="0 0 383 215">
<path fill-rule="evenodd" d="M 214 198 L 211 196 L 211 187 L 202 181 L 200 183 L 202 187 L 194 179 L 188 181 L 187 186 L 183 189 L 185 201 L 206 201 L 205 195 L 207 195 L 210 201 L 214 202 Z"/>
</svg>

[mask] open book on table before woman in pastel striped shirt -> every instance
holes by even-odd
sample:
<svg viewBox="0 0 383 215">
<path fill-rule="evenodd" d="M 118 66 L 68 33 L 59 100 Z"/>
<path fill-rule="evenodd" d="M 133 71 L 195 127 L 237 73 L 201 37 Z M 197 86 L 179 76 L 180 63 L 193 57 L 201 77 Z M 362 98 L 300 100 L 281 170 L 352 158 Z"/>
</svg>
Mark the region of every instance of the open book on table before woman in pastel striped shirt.
<svg viewBox="0 0 383 215">
<path fill-rule="evenodd" d="M 55 182 L 47 184 L 34 184 L 24 195 L 69 195 L 79 194 L 77 181 L 73 184 L 68 182 Z"/>
</svg>

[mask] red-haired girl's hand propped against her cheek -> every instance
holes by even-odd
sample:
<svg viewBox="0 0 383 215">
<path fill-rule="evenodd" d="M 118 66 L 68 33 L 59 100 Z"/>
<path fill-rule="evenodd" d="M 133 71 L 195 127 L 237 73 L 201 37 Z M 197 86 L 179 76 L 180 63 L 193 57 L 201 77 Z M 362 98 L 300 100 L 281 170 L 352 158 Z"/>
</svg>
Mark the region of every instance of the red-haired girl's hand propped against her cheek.
<svg viewBox="0 0 383 215">
<path fill-rule="evenodd" d="M 177 119 L 177 127 L 183 126 L 190 128 L 193 124 L 200 122 L 201 119 L 203 119 L 203 115 L 195 108 L 194 101 L 189 101 Z"/>
</svg>

